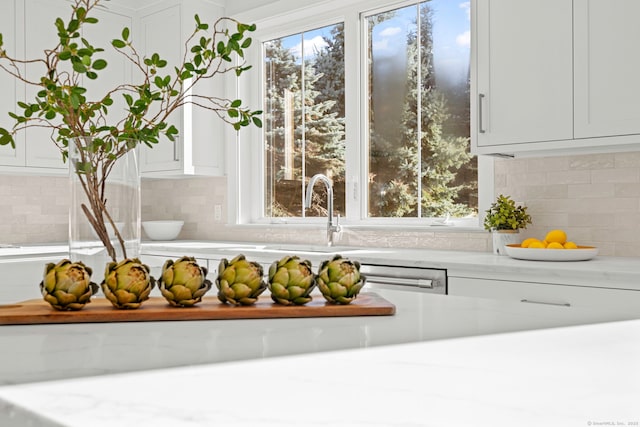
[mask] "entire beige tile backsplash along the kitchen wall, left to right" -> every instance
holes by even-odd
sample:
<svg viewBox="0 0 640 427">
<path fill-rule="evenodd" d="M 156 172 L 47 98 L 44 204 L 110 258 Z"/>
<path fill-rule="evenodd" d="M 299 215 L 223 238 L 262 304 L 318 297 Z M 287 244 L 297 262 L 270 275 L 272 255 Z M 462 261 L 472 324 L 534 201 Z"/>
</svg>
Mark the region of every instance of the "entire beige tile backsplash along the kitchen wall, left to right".
<svg viewBox="0 0 640 427">
<path fill-rule="evenodd" d="M 145 179 L 142 218 L 182 219 L 181 239 L 323 242 L 304 227 L 226 226 L 225 178 Z M 640 257 L 640 152 L 495 161 L 495 194 L 525 203 L 533 224 L 524 237 L 562 228 L 602 255 Z M 3 175 L 0 243 L 67 240 L 66 177 Z M 216 219 L 216 206 L 222 216 Z M 338 244 L 491 250 L 485 232 L 347 230 Z"/>
</svg>

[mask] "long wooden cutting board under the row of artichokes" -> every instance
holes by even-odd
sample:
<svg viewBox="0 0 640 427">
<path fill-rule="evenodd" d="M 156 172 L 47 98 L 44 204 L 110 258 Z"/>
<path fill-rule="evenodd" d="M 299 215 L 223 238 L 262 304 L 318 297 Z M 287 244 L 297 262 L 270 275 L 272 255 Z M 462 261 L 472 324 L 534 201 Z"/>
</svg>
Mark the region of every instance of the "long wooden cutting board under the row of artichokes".
<svg viewBox="0 0 640 427">
<path fill-rule="evenodd" d="M 386 316 L 395 311 L 392 303 L 370 292 L 359 294 L 348 305 L 329 304 L 322 296 L 315 296 L 303 306 L 284 306 L 275 304 L 269 296 L 262 296 L 254 305 L 232 306 L 210 296 L 195 307 L 172 307 L 162 297 L 151 297 L 136 310 L 119 310 L 105 298 L 93 298 L 82 310 L 58 311 L 38 299 L 0 305 L 0 325 Z"/>
</svg>

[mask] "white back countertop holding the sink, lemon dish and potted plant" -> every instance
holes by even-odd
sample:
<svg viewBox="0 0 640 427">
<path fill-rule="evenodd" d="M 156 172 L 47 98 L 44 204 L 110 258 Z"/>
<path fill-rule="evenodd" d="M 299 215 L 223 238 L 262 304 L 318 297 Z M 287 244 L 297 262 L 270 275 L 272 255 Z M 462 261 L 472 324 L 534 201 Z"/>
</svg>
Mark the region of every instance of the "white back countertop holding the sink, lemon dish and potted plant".
<svg viewBox="0 0 640 427">
<path fill-rule="evenodd" d="M 518 260 L 489 252 L 205 241 L 147 242 L 143 245 L 143 253 L 161 256 L 184 253 L 208 259 L 232 258 L 243 253 L 247 258 L 263 263 L 273 262 L 286 254 L 299 254 L 314 265 L 333 253 L 340 253 L 372 264 L 443 268 L 450 277 L 640 290 L 640 259 L 631 257 L 598 256 L 588 261 L 545 262 Z"/>
</svg>

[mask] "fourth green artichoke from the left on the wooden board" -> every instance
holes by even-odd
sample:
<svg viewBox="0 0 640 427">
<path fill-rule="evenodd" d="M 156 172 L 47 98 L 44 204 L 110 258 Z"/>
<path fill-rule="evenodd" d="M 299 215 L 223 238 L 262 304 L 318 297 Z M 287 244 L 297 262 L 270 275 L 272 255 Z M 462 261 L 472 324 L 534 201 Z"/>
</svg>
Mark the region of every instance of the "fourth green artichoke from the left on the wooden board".
<svg viewBox="0 0 640 427">
<path fill-rule="evenodd" d="M 223 258 L 218 266 L 218 299 L 235 305 L 251 305 L 265 289 L 264 270 L 257 262 L 238 255 L 231 261 Z"/>
</svg>

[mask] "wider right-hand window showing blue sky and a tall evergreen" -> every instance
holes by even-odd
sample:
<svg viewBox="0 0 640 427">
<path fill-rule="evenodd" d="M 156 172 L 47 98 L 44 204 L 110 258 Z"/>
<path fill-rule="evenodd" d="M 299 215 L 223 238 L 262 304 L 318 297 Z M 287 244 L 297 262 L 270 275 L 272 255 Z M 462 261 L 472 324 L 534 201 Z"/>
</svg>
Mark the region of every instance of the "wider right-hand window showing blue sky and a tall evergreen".
<svg viewBox="0 0 640 427">
<path fill-rule="evenodd" d="M 370 217 L 477 212 L 465 14 L 432 0 L 366 16 Z"/>
</svg>

